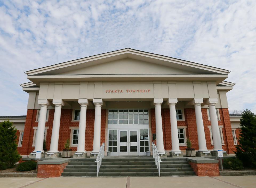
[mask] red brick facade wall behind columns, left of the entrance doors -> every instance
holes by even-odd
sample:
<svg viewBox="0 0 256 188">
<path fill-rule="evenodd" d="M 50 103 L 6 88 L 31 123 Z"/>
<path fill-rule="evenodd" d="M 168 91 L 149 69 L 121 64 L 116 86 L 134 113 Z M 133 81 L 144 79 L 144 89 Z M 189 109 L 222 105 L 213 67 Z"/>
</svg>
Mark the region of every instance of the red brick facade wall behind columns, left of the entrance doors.
<svg viewBox="0 0 256 188">
<path fill-rule="evenodd" d="M 34 129 L 33 127 L 38 126 L 38 122 L 35 122 L 37 110 L 27 110 L 27 118 L 24 129 L 23 144 L 22 147 L 18 147 L 18 152 L 21 155 L 29 155 L 34 150 L 32 147 Z M 87 109 L 86 111 L 86 132 L 85 132 L 85 150 L 91 151 L 93 149 L 93 131 L 94 131 L 94 109 Z M 49 111 L 48 122 L 45 123 L 47 129 L 46 134 L 46 148 L 50 149 L 51 144 L 51 133 L 53 129 L 53 117 L 54 109 Z M 101 110 L 101 144 L 105 142 L 105 127 L 106 127 L 106 109 Z M 61 110 L 60 130 L 59 130 L 59 144 L 58 150 L 64 149 L 64 144 L 67 139 L 70 139 L 70 128 L 79 128 L 79 122 L 72 121 L 72 109 Z M 17 133 L 18 134 L 18 133 Z M 71 147 L 72 151 L 76 151 L 77 147 Z"/>
</svg>

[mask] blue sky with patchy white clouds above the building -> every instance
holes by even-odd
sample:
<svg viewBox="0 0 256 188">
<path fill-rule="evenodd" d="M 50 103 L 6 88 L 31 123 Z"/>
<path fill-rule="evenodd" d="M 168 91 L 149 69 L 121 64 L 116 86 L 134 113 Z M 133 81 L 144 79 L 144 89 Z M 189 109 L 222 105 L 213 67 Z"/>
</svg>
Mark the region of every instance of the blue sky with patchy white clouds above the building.
<svg viewBox="0 0 256 188">
<path fill-rule="evenodd" d="M 0 0 L 0 116 L 26 115 L 25 71 L 123 48 L 230 71 L 229 110 L 256 112 L 256 1 Z"/>
</svg>

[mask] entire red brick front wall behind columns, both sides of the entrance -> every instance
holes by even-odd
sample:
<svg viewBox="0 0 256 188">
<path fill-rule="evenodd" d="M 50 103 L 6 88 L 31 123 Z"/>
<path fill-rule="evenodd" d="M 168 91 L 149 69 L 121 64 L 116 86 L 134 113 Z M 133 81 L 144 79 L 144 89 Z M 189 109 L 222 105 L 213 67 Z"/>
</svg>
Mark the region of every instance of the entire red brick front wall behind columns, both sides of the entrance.
<svg viewBox="0 0 256 188">
<path fill-rule="evenodd" d="M 197 126 L 195 120 L 195 110 L 194 108 L 185 108 L 184 109 L 185 121 L 177 121 L 179 126 L 187 126 L 186 136 L 192 141 L 192 145 L 195 149 L 198 149 L 198 139 L 197 139 Z M 219 109 L 221 120 L 218 121 L 219 125 L 222 125 L 222 133 L 224 137 L 224 144 L 222 148 L 227 151 L 227 153 L 233 153 L 235 151 L 235 146 L 233 142 L 231 124 L 229 119 L 229 112 L 227 108 Z M 23 144 L 22 147 L 18 148 L 18 151 L 21 155 L 28 155 L 34 150 L 32 147 L 33 136 L 34 136 L 34 126 L 38 126 L 36 120 L 37 110 L 27 110 L 27 118 L 24 129 Z M 87 109 L 86 112 L 86 134 L 85 134 L 85 149 L 91 151 L 93 149 L 93 132 L 94 132 L 94 109 Z M 152 134 L 155 133 L 155 109 L 150 110 L 151 114 L 151 131 Z M 207 149 L 213 149 L 210 140 L 210 131 L 207 126 L 211 125 L 211 122 L 208 120 L 207 109 L 202 108 L 203 123 L 205 129 L 205 137 Z M 54 109 L 51 109 L 49 112 L 49 120 L 46 122 L 45 126 L 49 127 L 47 130 L 46 137 L 46 146 L 47 149 L 50 149 L 51 141 L 51 132 L 53 125 Z M 106 127 L 106 109 L 101 110 L 101 144 L 105 142 L 105 127 Z M 77 127 L 79 128 L 79 122 L 73 122 L 72 120 L 72 109 L 62 109 L 61 110 L 61 121 L 60 121 L 60 132 L 59 132 L 59 145 L 58 150 L 62 151 L 64 144 L 67 139 L 70 139 L 70 128 Z M 162 109 L 162 128 L 163 128 L 163 139 L 164 139 L 164 148 L 166 150 L 171 150 L 171 127 L 170 127 L 170 111 L 169 108 Z M 18 133 L 17 133 L 18 134 Z M 236 131 L 238 138 L 238 129 Z M 152 139 L 153 139 L 153 135 Z M 153 140 L 155 144 L 156 141 Z M 186 146 L 180 146 L 181 150 L 185 150 Z M 77 147 L 71 147 L 73 151 L 76 151 Z"/>
</svg>

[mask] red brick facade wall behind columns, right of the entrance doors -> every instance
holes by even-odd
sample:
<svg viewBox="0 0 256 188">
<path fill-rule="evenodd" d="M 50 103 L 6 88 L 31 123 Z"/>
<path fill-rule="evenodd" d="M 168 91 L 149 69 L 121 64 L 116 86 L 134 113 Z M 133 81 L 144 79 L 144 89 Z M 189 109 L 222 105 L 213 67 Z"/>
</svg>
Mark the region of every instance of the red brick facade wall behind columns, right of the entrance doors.
<svg viewBox="0 0 256 188">
<path fill-rule="evenodd" d="M 151 112 L 151 131 L 152 134 L 155 133 L 155 109 L 152 108 Z M 197 124 L 195 119 L 195 109 L 194 108 L 185 108 L 184 109 L 184 117 L 185 121 L 177 121 L 177 126 L 187 126 L 186 129 L 186 136 L 192 142 L 192 146 L 195 149 L 198 148 L 198 139 L 197 139 Z M 224 144 L 222 148 L 227 151 L 227 153 L 233 153 L 235 150 L 234 141 L 231 132 L 231 123 L 229 119 L 229 112 L 227 108 L 219 109 L 220 119 L 218 121 L 219 125 L 222 125 L 222 133 Z M 210 130 L 208 126 L 211 125 L 211 121 L 208 120 L 207 109 L 202 108 L 202 117 L 203 117 L 203 124 L 205 129 L 205 138 L 206 138 L 206 145 L 207 149 L 213 149 L 213 145 L 211 145 L 211 138 L 210 138 Z M 164 139 L 164 148 L 165 150 L 171 150 L 171 126 L 170 126 L 170 111 L 169 108 L 162 109 L 162 127 L 163 127 L 163 139 Z M 238 131 L 236 131 L 238 132 Z M 237 133 L 238 134 L 238 133 Z M 237 136 L 238 138 L 238 136 Z M 153 136 L 152 136 L 153 139 Z M 153 141 L 157 144 L 155 141 Z M 185 150 L 186 146 L 180 146 L 181 150 Z"/>
</svg>

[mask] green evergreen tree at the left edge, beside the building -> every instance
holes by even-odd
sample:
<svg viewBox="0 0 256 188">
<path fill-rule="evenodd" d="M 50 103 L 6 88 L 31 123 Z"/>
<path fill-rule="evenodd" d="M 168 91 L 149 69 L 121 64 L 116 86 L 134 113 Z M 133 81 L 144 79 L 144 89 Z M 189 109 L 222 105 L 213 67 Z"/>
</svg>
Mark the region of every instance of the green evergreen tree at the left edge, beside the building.
<svg viewBox="0 0 256 188">
<path fill-rule="evenodd" d="M 13 168 L 21 158 L 17 151 L 17 129 L 9 120 L 0 123 L 0 169 Z"/>
</svg>

